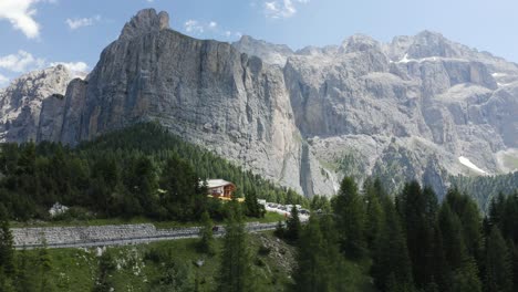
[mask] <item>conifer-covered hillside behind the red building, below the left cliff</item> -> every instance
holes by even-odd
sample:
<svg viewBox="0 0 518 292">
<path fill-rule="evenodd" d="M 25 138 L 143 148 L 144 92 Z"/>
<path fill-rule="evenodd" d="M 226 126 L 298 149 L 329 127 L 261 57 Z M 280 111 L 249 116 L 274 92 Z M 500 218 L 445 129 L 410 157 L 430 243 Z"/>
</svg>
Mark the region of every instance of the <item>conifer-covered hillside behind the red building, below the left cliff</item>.
<svg viewBox="0 0 518 292">
<path fill-rule="evenodd" d="M 282 189 L 198 146 L 183 142 L 156 124 L 139 124 L 83 143 L 2 144 L 0 202 L 11 219 L 48 219 L 56 201 L 73 207 L 74 217 L 133 217 L 197 220 L 204 210 L 224 215 L 207 200 L 199 179 L 224 178 L 237 196 L 305 204 Z"/>
</svg>

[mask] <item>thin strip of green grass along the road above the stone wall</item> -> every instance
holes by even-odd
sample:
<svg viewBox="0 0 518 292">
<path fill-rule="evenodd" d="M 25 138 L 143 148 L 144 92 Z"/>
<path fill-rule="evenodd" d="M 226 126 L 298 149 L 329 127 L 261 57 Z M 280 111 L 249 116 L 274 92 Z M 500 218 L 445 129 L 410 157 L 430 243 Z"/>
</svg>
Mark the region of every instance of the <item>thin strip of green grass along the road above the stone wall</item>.
<svg viewBox="0 0 518 292">
<path fill-rule="evenodd" d="M 276 212 L 267 212 L 265 218 L 246 218 L 247 222 L 270 223 L 279 220 L 284 220 L 284 216 Z M 93 219 L 93 220 L 70 220 L 70 221 L 34 221 L 34 222 L 18 222 L 11 221 L 12 228 L 23 227 L 71 227 L 71 226 L 106 226 L 106 225 L 138 225 L 153 223 L 156 228 L 183 228 L 200 226 L 199 222 L 180 222 L 180 221 L 153 221 L 145 217 L 135 217 L 132 219 L 111 218 L 111 219 Z M 216 225 L 222 225 L 222 221 L 216 221 Z"/>
</svg>

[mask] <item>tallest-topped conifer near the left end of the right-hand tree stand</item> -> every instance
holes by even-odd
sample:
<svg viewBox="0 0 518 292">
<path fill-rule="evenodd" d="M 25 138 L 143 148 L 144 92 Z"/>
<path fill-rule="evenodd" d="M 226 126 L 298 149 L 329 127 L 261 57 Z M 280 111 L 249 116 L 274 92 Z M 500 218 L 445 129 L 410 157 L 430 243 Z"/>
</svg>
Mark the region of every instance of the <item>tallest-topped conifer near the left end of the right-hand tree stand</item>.
<svg viewBox="0 0 518 292">
<path fill-rule="evenodd" d="M 354 179 L 345 177 L 333 198 L 333 211 L 340 234 L 341 249 L 351 259 L 362 258 L 366 250 L 364 233 L 364 204 Z"/>
</svg>

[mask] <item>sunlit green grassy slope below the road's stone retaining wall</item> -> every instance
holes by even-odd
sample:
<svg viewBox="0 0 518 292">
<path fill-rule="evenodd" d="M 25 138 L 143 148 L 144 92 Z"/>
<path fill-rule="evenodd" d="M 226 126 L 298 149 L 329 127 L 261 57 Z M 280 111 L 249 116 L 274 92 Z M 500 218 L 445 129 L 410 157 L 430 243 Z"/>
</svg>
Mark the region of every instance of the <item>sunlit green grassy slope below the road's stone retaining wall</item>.
<svg viewBox="0 0 518 292">
<path fill-rule="evenodd" d="M 286 267 L 279 264 L 278 257 L 259 254 L 258 250 L 262 246 L 261 240 L 276 242 L 283 250 L 293 250 L 293 248 L 278 242 L 272 232 L 250 234 L 249 239 L 259 291 L 283 291 L 291 281 Z M 214 291 L 222 240 L 216 240 L 217 254 L 213 257 L 198 252 L 196 243 L 196 239 L 185 239 L 108 248 L 105 252 L 113 255 L 117 267 L 110 273 L 111 286 L 114 291 L 148 291 L 152 283 L 157 283 L 164 275 L 165 263 L 148 260 L 145 254 L 152 250 L 170 250 L 173 251 L 170 261 L 187 267 L 191 279 L 198 279 L 200 291 Z M 38 254 L 38 250 L 24 252 Z M 99 273 L 97 249 L 51 249 L 49 253 L 53 267 L 51 278 L 58 288 L 56 291 L 92 291 Z M 198 268 L 194 262 L 199 259 L 204 259 L 205 264 Z"/>
</svg>

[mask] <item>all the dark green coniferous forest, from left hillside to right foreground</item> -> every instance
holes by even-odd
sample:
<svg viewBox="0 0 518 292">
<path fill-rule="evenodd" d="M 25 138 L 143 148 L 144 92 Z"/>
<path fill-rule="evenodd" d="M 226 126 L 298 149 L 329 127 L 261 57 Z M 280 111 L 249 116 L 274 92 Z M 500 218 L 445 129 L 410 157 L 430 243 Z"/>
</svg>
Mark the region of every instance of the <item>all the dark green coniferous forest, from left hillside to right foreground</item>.
<svg viewBox="0 0 518 292">
<path fill-rule="evenodd" d="M 349 277 L 352 269 L 363 269 L 372 280 L 366 291 L 518 289 L 516 192 L 494 195 L 483 212 L 477 200 L 458 188 L 449 189 L 439 201 L 431 188 L 416 181 L 394 195 L 379 179 L 367 179 L 360 187 L 345 177 L 336 196 L 307 200 L 155 124 L 122 129 L 75 148 L 3 144 L 0 169 L 2 291 L 54 291 L 55 283 L 48 277 L 52 271 L 48 250 L 14 252 L 9 221 L 46 220 L 48 209 L 56 201 L 70 206 L 68 216 L 74 218 L 144 216 L 200 222 L 196 249 L 207 257 L 217 255 L 219 262 L 214 290 L 270 291 L 253 277 L 265 263 L 251 252 L 244 225 L 245 215 L 263 216 L 257 198 L 302 204 L 312 210 L 310 219 L 301 222 L 298 209 L 292 208 L 291 217 L 279 222 L 274 232 L 297 251 L 297 263 L 282 290 L 354 291 L 358 286 L 352 288 Z M 214 177 L 240 186 L 239 196 L 247 195 L 245 202 L 209 200 L 199 180 Z M 211 233 L 213 219 L 226 219 L 220 249 Z M 172 252 L 151 250 L 145 257 L 160 263 Z M 93 291 L 110 291 L 116 270 L 112 255 L 100 258 Z M 158 290 L 149 291 L 206 291 L 198 290 L 199 279 L 183 263 L 168 264 L 162 278 L 149 284 Z M 175 280 L 180 278 L 185 281 Z M 276 289 L 279 285 L 276 282 Z"/>
</svg>

